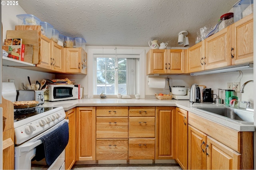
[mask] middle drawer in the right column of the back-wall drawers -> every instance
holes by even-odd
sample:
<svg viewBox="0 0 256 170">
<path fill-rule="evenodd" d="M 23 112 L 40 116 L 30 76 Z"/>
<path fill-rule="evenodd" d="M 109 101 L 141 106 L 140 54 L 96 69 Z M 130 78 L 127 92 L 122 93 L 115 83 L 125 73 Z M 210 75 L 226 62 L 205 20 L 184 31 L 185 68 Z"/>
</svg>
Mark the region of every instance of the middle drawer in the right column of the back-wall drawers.
<svg viewBox="0 0 256 170">
<path fill-rule="evenodd" d="M 129 138 L 154 138 L 155 117 L 129 117 Z"/>
</svg>

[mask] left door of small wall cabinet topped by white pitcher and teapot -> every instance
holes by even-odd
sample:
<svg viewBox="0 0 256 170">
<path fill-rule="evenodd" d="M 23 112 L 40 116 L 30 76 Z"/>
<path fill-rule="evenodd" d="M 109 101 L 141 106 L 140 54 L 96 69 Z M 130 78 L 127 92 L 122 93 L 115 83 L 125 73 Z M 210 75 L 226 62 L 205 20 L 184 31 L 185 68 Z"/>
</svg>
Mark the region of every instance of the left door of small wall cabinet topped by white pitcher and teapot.
<svg viewBox="0 0 256 170">
<path fill-rule="evenodd" d="M 147 74 L 167 73 L 167 50 L 150 49 L 147 53 Z"/>
</svg>

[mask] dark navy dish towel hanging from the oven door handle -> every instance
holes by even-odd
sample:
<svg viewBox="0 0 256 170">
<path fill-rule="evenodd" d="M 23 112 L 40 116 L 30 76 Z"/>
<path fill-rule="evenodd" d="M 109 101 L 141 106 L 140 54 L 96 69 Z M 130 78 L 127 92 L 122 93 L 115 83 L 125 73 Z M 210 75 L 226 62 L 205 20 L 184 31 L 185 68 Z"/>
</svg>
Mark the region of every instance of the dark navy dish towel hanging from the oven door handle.
<svg viewBox="0 0 256 170">
<path fill-rule="evenodd" d="M 67 146 L 68 138 L 68 122 L 65 122 L 40 138 L 43 143 L 36 147 L 35 159 L 39 161 L 45 158 L 46 164 L 51 165 Z"/>
</svg>

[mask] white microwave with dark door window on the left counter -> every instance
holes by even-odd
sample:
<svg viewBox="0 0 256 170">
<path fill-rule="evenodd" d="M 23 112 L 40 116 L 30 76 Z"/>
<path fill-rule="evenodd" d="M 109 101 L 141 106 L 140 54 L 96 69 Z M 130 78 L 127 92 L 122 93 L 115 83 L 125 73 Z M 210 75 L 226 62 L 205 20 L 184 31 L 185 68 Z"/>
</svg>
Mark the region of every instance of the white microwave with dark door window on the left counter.
<svg viewBox="0 0 256 170">
<path fill-rule="evenodd" d="M 69 84 L 49 84 L 49 102 L 78 99 L 78 87 Z"/>
</svg>

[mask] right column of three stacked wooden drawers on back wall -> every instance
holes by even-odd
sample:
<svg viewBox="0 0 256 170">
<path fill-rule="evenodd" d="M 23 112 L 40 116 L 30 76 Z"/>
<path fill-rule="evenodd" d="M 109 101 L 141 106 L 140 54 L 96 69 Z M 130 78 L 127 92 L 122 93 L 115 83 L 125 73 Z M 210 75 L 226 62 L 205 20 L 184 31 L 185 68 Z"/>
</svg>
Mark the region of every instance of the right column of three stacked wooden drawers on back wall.
<svg viewBox="0 0 256 170">
<path fill-rule="evenodd" d="M 129 159 L 155 159 L 155 107 L 129 107 Z"/>
</svg>

